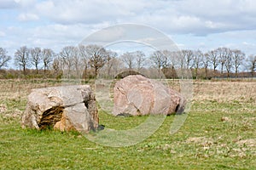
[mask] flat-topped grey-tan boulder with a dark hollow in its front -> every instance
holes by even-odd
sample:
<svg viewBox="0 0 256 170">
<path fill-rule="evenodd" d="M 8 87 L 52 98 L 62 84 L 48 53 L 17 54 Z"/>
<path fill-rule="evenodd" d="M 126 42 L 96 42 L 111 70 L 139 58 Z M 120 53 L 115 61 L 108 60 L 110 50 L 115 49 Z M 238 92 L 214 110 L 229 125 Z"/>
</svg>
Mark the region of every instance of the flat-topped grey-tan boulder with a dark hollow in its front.
<svg viewBox="0 0 256 170">
<path fill-rule="evenodd" d="M 28 95 L 22 127 L 88 133 L 98 127 L 96 99 L 89 85 L 33 89 Z"/>
</svg>

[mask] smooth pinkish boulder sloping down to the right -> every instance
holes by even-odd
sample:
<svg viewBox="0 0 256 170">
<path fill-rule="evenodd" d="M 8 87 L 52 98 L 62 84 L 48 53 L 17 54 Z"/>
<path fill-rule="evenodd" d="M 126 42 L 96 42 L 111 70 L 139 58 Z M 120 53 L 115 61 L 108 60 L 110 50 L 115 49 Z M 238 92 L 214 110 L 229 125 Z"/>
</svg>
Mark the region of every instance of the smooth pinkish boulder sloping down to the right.
<svg viewBox="0 0 256 170">
<path fill-rule="evenodd" d="M 184 110 L 186 101 L 177 91 L 141 75 L 128 76 L 113 88 L 113 115 L 170 115 Z"/>
</svg>

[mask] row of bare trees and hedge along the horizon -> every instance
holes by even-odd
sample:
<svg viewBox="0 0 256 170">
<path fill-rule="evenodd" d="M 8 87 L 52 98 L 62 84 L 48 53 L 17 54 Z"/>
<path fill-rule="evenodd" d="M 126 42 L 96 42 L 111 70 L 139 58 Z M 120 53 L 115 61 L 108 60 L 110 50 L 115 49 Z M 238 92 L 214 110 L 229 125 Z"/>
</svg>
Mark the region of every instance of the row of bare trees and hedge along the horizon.
<svg viewBox="0 0 256 170">
<path fill-rule="evenodd" d="M 18 70 L 9 69 L 10 62 Z M 50 48 L 22 46 L 10 56 L 0 48 L 2 77 L 64 77 L 94 78 L 116 77 L 123 71 L 155 74 L 154 77 L 177 78 L 177 71 L 191 71 L 194 78 L 254 77 L 256 55 L 246 55 L 239 49 L 216 48 L 201 50 L 156 50 L 146 56 L 143 51 L 117 54 L 98 45 L 67 46 L 55 53 Z M 9 75 L 9 76 L 7 76 Z"/>
</svg>

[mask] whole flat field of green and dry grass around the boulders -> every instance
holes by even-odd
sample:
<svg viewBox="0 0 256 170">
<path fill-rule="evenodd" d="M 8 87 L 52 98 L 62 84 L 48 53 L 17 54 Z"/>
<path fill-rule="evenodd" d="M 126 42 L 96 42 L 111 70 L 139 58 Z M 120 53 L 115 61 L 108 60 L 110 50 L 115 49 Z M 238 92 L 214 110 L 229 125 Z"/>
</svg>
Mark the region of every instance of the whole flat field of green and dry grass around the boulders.
<svg viewBox="0 0 256 170">
<path fill-rule="evenodd" d="M 178 90 L 178 82 L 169 82 Z M 186 122 L 170 135 L 167 116 L 143 142 L 108 147 L 79 133 L 20 127 L 32 88 L 55 81 L 0 80 L 0 169 L 256 169 L 256 82 L 194 82 Z M 147 116 L 113 117 L 100 124 L 127 129 Z"/>
</svg>

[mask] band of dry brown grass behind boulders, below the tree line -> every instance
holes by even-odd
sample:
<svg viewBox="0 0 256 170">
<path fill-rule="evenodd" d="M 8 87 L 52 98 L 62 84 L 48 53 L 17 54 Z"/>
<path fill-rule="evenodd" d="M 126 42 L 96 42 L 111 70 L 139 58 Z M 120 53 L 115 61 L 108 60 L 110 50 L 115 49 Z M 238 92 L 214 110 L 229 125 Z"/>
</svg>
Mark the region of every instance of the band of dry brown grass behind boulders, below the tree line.
<svg viewBox="0 0 256 170">
<path fill-rule="evenodd" d="M 179 91 L 180 82 L 168 81 L 169 86 Z M 61 82 L 40 80 L 0 80 L 0 99 L 26 99 L 32 88 L 61 86 Z M 251 103 L 256 105 L 256 82 L 193 82 L 193 101 Z"/>
</svg>

